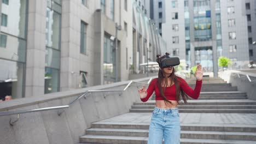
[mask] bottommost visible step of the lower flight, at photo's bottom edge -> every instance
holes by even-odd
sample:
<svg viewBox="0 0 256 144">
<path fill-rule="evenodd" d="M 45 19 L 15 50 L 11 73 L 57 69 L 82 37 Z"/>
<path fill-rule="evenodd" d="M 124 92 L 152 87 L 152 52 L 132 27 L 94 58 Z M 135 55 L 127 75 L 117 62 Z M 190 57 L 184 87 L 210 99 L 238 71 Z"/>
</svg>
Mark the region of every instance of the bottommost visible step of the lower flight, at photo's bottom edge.
<svg viewBox="0 0 256 144">
<path fill-rule="evenodd" d="M 92 143 L 147 143 L 148 137 L 139 136 L 105 136 L 105 135 L 84 135 L 80 137 L 80 142 Z M 241 141 L 241 140 L 209 140 L 209 139 L 181 139 L 182 144 L 194 143 L 226 143 L 226 144 L 255 144 L 256 141 Z"/>
</svg>

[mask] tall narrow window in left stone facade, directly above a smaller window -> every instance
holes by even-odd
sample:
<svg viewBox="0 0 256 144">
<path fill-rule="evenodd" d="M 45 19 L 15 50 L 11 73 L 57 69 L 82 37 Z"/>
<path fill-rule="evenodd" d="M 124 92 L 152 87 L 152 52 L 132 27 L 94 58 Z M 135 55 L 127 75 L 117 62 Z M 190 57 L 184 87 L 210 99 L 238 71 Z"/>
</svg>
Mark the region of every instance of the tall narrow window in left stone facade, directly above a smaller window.
<svg viewBox="0 0 256 144">
<path fill-rule="evenodd" d="M 87 25 L 81 21 L 81 32 L 80 32 L 80 53 L 86 54 L 86 29 Z"/>
</svg>

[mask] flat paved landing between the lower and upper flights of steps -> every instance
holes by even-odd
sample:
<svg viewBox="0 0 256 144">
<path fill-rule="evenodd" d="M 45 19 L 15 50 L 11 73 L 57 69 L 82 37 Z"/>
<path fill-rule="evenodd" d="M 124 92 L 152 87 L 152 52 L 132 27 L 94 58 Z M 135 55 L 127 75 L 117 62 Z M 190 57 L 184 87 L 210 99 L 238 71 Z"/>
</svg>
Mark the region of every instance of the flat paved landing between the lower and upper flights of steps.
<svg viewBox="0 0 256 144">
<path fill-rule="evenodd" d="M 101 123 L 143 123 L 149 124 L 152 113 L 125 113 L 113 118 L 104 119 Z M 181 124 L 234 124 L 255 125 L 255 113 L 180 113 Z"/>
</svg>

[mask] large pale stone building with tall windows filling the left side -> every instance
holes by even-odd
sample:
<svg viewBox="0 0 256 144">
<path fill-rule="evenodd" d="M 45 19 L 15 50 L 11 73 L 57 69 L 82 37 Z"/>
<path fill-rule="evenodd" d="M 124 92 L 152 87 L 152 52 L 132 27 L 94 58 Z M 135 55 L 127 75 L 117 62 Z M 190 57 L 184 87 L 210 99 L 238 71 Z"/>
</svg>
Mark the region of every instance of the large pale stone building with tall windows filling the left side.
<svg viewBox="0 0 256 144">
<path fill-rule="evenodd" d="M 148 31 L 148 18 L 137 14 L 135 3 L 1 1 L 0 97 L 38 97 L 128 80 L 131 63 L 145 62 L 146 49 L 159 51 L 162 41 Z M 144 21 L 135 22 L 134 15 Z"/>
</svg>

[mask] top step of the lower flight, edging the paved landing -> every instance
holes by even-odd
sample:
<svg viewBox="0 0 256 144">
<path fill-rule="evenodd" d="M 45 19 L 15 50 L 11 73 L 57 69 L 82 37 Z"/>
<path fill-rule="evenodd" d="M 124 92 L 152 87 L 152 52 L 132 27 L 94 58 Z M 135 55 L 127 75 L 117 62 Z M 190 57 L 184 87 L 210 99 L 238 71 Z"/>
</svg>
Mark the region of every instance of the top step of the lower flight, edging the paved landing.
<svg viewBox="0 0 256 144">
<path fill-rule="evenodd" d="M 124 123 L 124 122 L 96 122 L 92 128 L 105 129 L 149 129 L 149 123 Z M 230 131 L 230 132 L 256 132 L 256 125 L 248 124 L 188 124 L 181 123 L 181 130 L 184 131 Z"/>
</svg>

